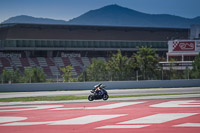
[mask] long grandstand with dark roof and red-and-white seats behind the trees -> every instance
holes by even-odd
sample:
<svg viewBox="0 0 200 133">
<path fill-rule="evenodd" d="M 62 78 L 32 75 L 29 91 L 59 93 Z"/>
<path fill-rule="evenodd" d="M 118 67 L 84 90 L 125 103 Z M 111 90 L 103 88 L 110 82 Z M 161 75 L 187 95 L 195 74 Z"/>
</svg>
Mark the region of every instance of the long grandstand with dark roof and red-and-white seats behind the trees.
<svg viewBox="0 0 200 133">
<path fill-rule="evenodd" d="M 92 58 L 107 61 L 118 49 L 131 56 L 141 46 L 166 57 L 168 40 L 188 38 L 189 29 L 179 28 L 1 24 L 0 73 L 40 67 L 48 78 L 56 78 L 60 67 L 72 65 L 77 77 Z"/>
</svg>

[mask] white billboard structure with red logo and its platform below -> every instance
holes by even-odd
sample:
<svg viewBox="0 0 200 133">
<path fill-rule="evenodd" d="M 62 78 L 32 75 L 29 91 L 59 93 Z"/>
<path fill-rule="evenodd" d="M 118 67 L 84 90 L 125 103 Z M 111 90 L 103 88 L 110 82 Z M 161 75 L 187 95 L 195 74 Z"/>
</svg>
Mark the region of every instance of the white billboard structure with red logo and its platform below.
<svg viewBox="0 0 200 133">
<path fill-rule="evenodd" d="M 174 40 L 168 42 L 167 62 L 160 62 L 164 70 L 192 69 L 192 62 L 200 52 L 200 40 Z"/>
</svg>

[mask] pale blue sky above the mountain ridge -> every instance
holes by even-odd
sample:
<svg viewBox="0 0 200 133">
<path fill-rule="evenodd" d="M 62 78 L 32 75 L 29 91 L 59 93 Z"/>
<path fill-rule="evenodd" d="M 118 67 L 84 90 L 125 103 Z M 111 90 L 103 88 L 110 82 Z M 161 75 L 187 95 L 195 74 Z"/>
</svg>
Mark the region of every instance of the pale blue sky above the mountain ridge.
<svg viewBox="0 0 200 133">
<path fill-rule="evenodd" d="M 69 20 L 110 4 L 150 14 L 200 16 L 200 0 L 0 0 L 0 22 L 17 15 Z"/>
</svg>

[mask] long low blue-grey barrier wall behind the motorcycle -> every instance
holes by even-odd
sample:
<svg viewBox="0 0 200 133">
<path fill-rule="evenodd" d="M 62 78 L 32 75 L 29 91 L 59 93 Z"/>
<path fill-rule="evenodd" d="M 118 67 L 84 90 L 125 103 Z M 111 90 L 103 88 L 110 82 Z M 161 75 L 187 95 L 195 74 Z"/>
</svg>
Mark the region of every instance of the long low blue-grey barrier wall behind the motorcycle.
<svg viewBox="0 0 200 133">
<path fill-rule="evenodd" d="M 88 90 L 99 82 L 0 84 L 0 92 Z M 200 87 L 197 80 L 103 81 L 107 89 Z"/>
</svg>

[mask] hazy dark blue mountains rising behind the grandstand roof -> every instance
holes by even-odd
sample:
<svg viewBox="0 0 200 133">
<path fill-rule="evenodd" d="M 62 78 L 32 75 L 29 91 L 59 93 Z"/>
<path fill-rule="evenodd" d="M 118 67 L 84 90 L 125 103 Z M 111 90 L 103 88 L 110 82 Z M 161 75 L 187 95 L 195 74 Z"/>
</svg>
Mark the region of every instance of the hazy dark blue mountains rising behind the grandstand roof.
<svg viewBox="0 0 200 133">
<path fill-rule="evenodd" d="M 200 16 L 184 18 L 169 14 L 147 14 L 119 5 L 108 5 L 90 10 L 69 21 L 20 15 L 2 22 L 5 23 L 189 28 L 191 24 L 200 24 Z"/>
</svg>

